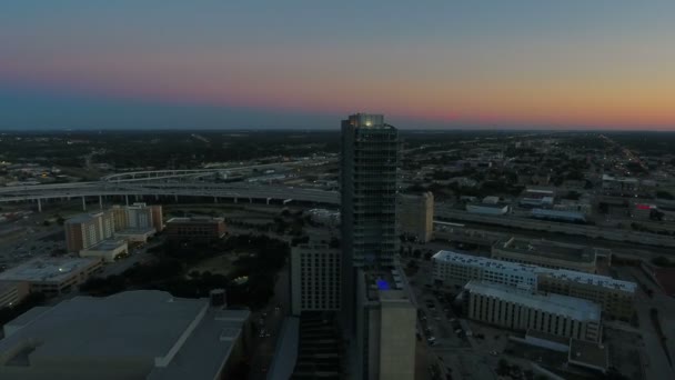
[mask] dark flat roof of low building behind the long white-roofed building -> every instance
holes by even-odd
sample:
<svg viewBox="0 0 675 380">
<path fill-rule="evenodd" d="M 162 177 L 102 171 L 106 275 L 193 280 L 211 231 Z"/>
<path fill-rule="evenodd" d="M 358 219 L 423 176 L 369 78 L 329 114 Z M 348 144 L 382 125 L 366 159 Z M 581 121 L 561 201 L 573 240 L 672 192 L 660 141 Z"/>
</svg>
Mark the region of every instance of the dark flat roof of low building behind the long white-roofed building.
<svg viewBox="0 0 675 380">
<path fill-rule="evenodd" d="M 495 244 L 502 251 L 520 254 L 544 257 L 557 260 L 594 262 L 596 250 L 591 247 L 562 244 L 546 240 L 526 240 L 510 238 Z"/>
</svg>

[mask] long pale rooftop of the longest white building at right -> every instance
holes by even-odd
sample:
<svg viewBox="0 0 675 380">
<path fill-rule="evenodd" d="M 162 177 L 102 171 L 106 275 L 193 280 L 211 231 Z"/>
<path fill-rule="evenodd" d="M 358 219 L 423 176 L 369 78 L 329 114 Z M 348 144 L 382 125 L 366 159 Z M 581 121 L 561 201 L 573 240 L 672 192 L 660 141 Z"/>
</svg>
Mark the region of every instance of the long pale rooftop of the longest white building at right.
<svg viewBox="0 0 675 380">
<path fill-rule="evenodd" d="M 537 266 L 527 266 L 517 262 L 488 259 L 484 257 L 457 253 L 453 251 L 439 251 L 436 254 L 433 256 L 432 260 L 442 262 L 454 262 L 457 264 L 473 268 L 498 269 L 512 272 L 530 272 L 535 276 L 550 276 L 556 279 L 564 279 L 567 281 L 574 281 L 580 283 L 588 283 L 597 287 L 616 289 L 631 293 L 634 293 L 637 289 L 637 284 L 634 282 L 615 280 L 606 276 L 577 272 L 574 270 L 566 269 L 548 269 Z"/>
</svg>

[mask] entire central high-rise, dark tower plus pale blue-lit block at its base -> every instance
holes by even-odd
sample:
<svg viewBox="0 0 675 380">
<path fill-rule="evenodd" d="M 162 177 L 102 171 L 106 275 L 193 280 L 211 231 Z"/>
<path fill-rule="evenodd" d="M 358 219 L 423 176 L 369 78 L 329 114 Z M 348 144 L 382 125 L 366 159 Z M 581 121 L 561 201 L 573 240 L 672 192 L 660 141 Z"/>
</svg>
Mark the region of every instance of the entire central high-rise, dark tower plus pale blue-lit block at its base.
<svg viewBox="0 0 675 380">
<path fill-rule="evenodd" d="M 397 277 L 399 132 L 382 114 L 342 121 L 342 321 L 355 379 L 413 379 L 415 307 Z"/>
</svg>

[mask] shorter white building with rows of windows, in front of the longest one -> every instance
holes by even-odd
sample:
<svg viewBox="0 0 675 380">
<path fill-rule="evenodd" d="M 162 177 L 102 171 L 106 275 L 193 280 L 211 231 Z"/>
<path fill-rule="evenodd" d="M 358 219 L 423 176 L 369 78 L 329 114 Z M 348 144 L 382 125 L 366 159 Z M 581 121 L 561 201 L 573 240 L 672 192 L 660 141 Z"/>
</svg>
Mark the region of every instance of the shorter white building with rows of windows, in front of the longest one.
<svg viewBox="0 0 675 380">
<path fill-rule="evenodd" d="M 594 302 L 482 281 L 470 281 L 464 290 L 464 306 L 471 319 L 507 329 L 601 340 L 601 307 Z"/>
</svg>

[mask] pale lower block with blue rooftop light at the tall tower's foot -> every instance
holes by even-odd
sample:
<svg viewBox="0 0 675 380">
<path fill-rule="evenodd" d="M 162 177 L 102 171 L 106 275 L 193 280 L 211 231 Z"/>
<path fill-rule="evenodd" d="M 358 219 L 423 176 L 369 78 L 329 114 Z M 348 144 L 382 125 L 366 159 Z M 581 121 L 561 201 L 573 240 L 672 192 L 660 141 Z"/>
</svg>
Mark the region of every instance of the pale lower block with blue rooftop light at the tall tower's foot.
<svg viewBox="0 0 675 380">
<path fill-rule="evenodd" d="M 356 368 L 360 379 L 415 377 L 416 308 L 405 277 L 391 271 L 357 271 Z"/>
</svg>

